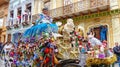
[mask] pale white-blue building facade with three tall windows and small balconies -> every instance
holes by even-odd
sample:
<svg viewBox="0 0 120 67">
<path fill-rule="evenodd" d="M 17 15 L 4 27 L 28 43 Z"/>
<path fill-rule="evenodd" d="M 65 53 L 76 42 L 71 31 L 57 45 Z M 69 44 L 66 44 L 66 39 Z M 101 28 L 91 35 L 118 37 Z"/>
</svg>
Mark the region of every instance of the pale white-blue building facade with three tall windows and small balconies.
<svg viewBox="0 0 120 67">
<path fill-rule="evenodd" d="M 7 18 L 7 41 L 12 41 L 13 34 L 23 33 L 32 25 L 32 12 L 34 10 L 34 0 L 10 0 Z M 27 22 L 25 22 L 25 10 L 27 12 Z"/>
</svg>

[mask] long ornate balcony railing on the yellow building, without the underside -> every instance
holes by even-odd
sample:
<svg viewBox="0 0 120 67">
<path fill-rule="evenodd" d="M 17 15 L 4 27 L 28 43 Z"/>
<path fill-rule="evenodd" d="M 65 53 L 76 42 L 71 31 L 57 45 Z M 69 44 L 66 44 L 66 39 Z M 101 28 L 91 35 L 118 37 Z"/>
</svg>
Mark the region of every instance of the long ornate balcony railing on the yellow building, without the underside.
<svg viewBox="0 0 120 67">
<path fill-rule="evenodd" d="M 82 11 L 92 11 L 93 9 L 98 9 L 100 7 L 106 7 L 109 5 L 110 0 L 82 0 L 66 6 L 52 9 L 50 10 L 50 15 L 55 18 L 73 13 L 79 13 Z"/>
</svg>

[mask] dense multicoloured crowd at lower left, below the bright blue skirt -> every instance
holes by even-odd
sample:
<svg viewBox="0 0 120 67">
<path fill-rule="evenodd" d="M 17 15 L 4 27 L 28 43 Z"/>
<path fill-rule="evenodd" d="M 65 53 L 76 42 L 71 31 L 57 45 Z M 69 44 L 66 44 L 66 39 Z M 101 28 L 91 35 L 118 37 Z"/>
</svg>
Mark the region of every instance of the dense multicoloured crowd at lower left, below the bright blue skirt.
<svg viewBox="0 0 120 67">
<path fill-rule="evenodd" d="M 53 67 L 55 53 L 58 52 L 55 41 L 51 38 L 41 38 L 39 42 L 19 42 L 18 46 L 12 42 L 7 42 L 1 47 L 1 56 L 4 61 L 8 62 L 7 67 L 11 64 L 16 66 L 37 66 Z"/>
</svg>

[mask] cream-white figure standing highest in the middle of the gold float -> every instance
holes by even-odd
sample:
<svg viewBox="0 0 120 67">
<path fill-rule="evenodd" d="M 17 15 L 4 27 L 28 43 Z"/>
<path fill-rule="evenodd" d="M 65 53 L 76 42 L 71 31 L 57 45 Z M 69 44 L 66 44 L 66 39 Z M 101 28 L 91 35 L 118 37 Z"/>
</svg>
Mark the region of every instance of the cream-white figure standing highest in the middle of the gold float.
<svg viewBox="0 0 120 67">
<path fill-rule="evenodd" d="M 66 31 L 68 34 L 74 30 L 74 23 L 72 19 L 68 19 L 67 23 L 64 25 L 63 31 Z"/>
</svg>

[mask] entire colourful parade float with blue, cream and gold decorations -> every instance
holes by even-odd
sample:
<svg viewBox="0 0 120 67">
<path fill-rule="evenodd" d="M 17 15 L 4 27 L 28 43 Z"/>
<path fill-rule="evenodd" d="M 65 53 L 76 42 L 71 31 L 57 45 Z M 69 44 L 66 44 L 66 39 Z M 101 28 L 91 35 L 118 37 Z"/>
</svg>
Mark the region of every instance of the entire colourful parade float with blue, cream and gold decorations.
<svg viewBox="0 0 120 67">
<path fill-rule="evenodd" d="M 51 20 L 40 18 L 21 38 L 16 38 L 18 33 L 14 34 L 13 42 L 17 47 L 11 50 L 9 56 L 12 64 L 22 67 L 93 67 L 111 65 L 116 61 L 116 56 L 107 48 L 107 43 L 103 45 L 95 38 L 93 30 L 87 38 L 84 34 L 83 28 L 75 26 L 72 19 L 63 25 L 62 22 L 54 24 Z"/>
</svg>

